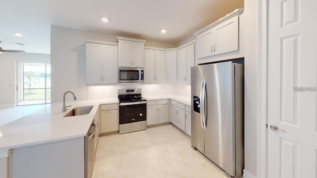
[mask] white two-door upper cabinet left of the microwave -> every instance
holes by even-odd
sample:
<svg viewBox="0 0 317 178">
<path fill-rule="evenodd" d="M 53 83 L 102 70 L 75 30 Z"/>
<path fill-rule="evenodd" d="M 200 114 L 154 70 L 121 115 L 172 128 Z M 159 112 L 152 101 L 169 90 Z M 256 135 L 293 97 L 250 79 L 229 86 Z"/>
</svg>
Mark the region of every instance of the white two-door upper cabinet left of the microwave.
<svg viewBox="0 0 317 178">
<path fill-rule="evenodd" d="M 86 84 L 117 84 L 117 46 L 86 43 Z"/>
</svg>

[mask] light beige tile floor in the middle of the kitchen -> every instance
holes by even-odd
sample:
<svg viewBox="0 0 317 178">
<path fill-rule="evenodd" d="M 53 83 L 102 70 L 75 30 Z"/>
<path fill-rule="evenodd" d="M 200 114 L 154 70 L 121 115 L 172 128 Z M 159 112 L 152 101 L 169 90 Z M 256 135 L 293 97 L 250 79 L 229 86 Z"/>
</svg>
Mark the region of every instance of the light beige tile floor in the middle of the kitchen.
<svg viewBox="0 0 317 178">
<path fill-rule="evenodd" d="M 227 178 L 172 125 L 99 137 L 92 178 Z"/>
</svg>

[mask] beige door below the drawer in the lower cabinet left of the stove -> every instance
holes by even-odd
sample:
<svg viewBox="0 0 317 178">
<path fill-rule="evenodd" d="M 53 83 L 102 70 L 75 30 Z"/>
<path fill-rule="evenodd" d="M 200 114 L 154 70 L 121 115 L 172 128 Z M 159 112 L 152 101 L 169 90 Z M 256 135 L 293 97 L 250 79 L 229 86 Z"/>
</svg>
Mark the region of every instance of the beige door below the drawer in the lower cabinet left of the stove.
<svg viewBox="0 0 317 178">
<path fill-rule="evenodd" d="M 101 111 L 101 133 L 119 130 L 118 110 Z"/>
</svg>

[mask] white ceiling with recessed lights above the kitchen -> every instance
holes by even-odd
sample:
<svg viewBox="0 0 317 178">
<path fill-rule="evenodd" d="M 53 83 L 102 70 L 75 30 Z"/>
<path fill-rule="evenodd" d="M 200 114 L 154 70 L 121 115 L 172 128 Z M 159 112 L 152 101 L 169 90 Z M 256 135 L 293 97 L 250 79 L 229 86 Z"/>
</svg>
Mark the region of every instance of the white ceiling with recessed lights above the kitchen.
<svg viewBox="0 0 317 178">
<path fill-rule="evenodd" d="M 50 54 L 51 25 L 177 44 L 244 6 L 244 0 L 4 1 L 0 3 L 0 46 L 44 54 Z M 102 17 L 109 22 L 102 22 Z M 162 34 L 161 29 L 167 32 Z"/>
</svg>

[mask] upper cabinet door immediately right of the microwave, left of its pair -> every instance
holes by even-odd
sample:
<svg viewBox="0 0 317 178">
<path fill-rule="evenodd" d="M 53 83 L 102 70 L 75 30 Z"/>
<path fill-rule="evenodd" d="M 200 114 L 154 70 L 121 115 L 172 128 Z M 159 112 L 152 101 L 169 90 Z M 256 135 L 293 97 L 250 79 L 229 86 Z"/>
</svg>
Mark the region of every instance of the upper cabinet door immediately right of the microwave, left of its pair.
<svg viewBox="0 0 317 178">
<path fill-rule="evenodd" d="M 144 50 L 144 82 L 155 83 L 155 50 Z"/>
</svg>

